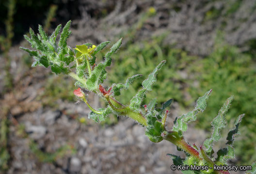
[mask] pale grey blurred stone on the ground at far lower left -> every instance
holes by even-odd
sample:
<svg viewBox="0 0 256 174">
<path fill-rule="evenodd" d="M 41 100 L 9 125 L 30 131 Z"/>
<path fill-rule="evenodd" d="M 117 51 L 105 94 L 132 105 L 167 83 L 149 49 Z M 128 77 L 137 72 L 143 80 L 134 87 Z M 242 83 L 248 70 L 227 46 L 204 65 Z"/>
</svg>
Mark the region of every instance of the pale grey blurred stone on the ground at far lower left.
<svg viewBox="0 0 256 174">
<path fill-rule="evenodd" d="M 45 136 L 47 129 L 43 126 L 29 125 L 26 127 L 26 132 L 30 134 L 32 139 L 38 140 Z"/>
</svg>

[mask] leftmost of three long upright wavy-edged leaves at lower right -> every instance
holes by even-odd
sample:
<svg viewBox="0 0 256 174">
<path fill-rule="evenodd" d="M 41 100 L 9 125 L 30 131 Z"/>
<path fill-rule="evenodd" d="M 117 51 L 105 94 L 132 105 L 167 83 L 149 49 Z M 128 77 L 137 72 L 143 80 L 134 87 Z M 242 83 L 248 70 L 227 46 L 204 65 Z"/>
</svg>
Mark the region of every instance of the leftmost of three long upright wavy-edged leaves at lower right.
<svg viewBox="0 0 256 174">
<path fill-rule="evenodd" d="M 190 111 L 187 114 L 184 114 L 175 119 L 173 131 L 179 132 L 179 135 L 181 135 L 182 132 L 187 131 L 188 123 L 195 121 L 197 114 L 199 112 L 203 112 L 206 109 L 206 101 L 208 100 L 211 92 L 212 89 L 206 92 L 204 96 L 198 98 L 193 111 Z"/>
</svg>

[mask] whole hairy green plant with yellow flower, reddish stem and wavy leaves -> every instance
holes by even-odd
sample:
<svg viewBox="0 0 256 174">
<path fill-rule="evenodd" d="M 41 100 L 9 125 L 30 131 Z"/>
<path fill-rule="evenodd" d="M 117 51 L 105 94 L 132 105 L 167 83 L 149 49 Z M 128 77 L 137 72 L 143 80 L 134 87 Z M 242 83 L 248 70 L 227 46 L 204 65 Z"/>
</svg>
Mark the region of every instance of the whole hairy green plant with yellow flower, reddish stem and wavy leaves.
<svg viewBox="0 0 256 174">
<path fill-rule="evenodd" d="M 59 25 L 50 36 L 46 34 L 40 25 L 38 28 L 39 34 L 35 34 L 34 31 L 30 29 L 30 37 L 26 35 L 24 37 L 31 43 L 32 48 L 35 50 L 30 50 L 24 47 L 20 48 L 27 51 L 34 58 L 32 66 L 39 65 L 45 66 L 46 68 L 50 67 L 53 73 L 64 73 L 74 78 L 76 80 L 75 85 L 79 88 L 74 90 L 73 93 L 80 100 L 85 102 L 92 111 L 88 115 L 90 119 L 100 122 L 110 114 L 130 117 L 145 128 L 145 134 L 150 141 L 158 143 L 162 140 L 167 140 L 175 144 L 179 150 L 185 152 L 187 155 L 186 159 L 181 159 L 175 155 L 169 155 L 174 160 L 174 164 L 208 167 L 200 169 L 190 168 L 182 171 L 184 174 L 229 174 L 227 170 L 214 170 L 213 167 L 215 165 L 228 165 L 228 161 L 235 157 L 233 142 L 235 137 L 240 133 L 238 127 L 244 115 L 238 117 L 234 124 L 234 128 L 229 131 L 226 147 L 217 152 L 217 158 L 214 158 L 213 156 L 214 151 L 212 147 L 214 143 L 221 138 L 220 132 L 226 126 L 224 116 L 230 107 L 233 96 L 226 100 L 220 109 L 219 114 L 211 122 L 211 126 L 213 127 L 211 137 L 207 139 L 203 145 L 192 145 L 185 141 L 183 132 L 187 131 L 188 123 L 195 121 L 198 113 L 201 113 L 206 109 L 206 101 L 208 100 L 212 89 L 197 100 L 196 106 L 192 111 L 175 119 L 172 130 L 167 130 L 166 118 L 169 112 L 167 107 L 172 103 L 172 99 L 164 102 L 160 108 L 156 108 L 156 99 L 153 99 L 148 104 L 142 106 L 146 94 L 152 90 L 152 85 L 157 80 L 157 73 L 166 63 L 166 60 L 161 61 L 148 77 L 144 79 L 142 87 L 137 91 L 135 96 L 131 98 L 129 103 L 122 104 L 115 99 L 115 96 L 120 95 L 121 90 L 128 89 L 129 85 L 134 80 L 141 78 L 141 74 L 129 77 L 124 84 L 112 84 L 108 89 L 101 85 L 107 78 L 105 68 L 111 65 L 111 56 L 120 48 L 122 38 L 112 45 L 110 51 L 105 54 L 104 60 L 96 64 L 96 54 L 103 50 L 110 42 L 103 42 L 97 46 L 92 43 L 84 43 L 82 45 L 76 45 L 76 48 L 71 48 L 67 46 L 66 43 L 67 38 L 71 34 L 71 31 L 69 30 L 70 24 L 71 21 L 68 21 L 64 26 L 60 37 L 58 37 L 58 35 L 61 31 L 61 25 Z M 107 106 L 98 109 L 91 107 L 82 89 L 96 93 L 106 101 Z M 124 95 L 123 97 L 127 96 Z M 255 165 L 256 164 L 254 163 L 253 169 L 247 172 L 255 174 Z"/>
</svg>

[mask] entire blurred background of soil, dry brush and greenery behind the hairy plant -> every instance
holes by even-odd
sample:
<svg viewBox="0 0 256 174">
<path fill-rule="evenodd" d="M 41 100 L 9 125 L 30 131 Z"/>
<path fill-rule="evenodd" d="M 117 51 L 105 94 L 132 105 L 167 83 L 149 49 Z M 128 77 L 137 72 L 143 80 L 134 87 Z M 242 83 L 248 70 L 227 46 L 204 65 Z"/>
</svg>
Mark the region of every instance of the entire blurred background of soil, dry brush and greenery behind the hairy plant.
<svg viewBox="0 0 256 174">
<path fill-rule="evenodd" d="M 255 0 L 0 0 L 0 173 L 172 174 L 166 154 L 184 157 L 168 142 L 151 143 L 130 119 L 110 116 L 94 123 L 87 106 L 76 103 L 72 79 L 31 68 L 32 58 L 18 48 L 29 46 L 23 35 L 30 27 L 37 32 L 38 24 L 50 33 L 70 19 L 72 47 L 124 38 L 106 87 L 135 73 L 146 76 L 167 60 L 146 101 L 157 97 L 160 105 L 174 99 L 169 128 L 213 89 L 207 110 L 186 133 L 190 143 L 204 142 L 210 121 L 234 95 L 224 137 L 237 116 L 245 117 L 230 163 L 256 161 Z M 142 80 L 126 96 L 131 98 Z M 94 95 L 89 102 L 105 104 Z"/>
</svg>

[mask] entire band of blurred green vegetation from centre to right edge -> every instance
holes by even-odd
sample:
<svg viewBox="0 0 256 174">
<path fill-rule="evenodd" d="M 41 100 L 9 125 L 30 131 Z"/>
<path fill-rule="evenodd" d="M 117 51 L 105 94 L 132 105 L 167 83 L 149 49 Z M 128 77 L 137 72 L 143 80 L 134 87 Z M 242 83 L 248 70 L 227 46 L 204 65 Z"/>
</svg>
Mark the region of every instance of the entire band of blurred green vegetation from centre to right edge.
<svg viewBox="0 0 256 174">
<path fill-rule="evenodd" d="M 251 164 L 256 160 L 253 139 L 256 139 L 256 62 L 252 54 L 242 53 L 238 47 L 224 43 L 218 34 L 213 52 L 205 57 L 190 56 L 187 52 L 164 45 L 162 37 L 144 42 L 127 44 L 113 57 L 113 67 L 108 72 L 109 86 L 124 83 L 134 74 L 144 74 L 121 95 L 116 97 L 123 104 L 141 87 L 141 82 L 163 59 L 167 63 L 158 74 L 158 82 L 147 95 L 145 103 L 157 97 L 158 104 L 172 98 L 182 108 L 189 109 L 195 100 L 209 89 L 213 93 L 208 100 L 207 110 L 198 117 L 197 127 L 210 130 L 211 120 L 217 116 L 222 103 L 235 96 L 232 107 L 226 115 L 227 122 L 240 114 L 242 121 L 242 141 L 236 142 L 236 154 L 240 164 Z M 123 95 L 122 95 L 123 94 Z M 126 98 L 122 96 L 128 96 Z"/>
</svg>

